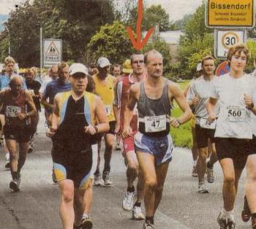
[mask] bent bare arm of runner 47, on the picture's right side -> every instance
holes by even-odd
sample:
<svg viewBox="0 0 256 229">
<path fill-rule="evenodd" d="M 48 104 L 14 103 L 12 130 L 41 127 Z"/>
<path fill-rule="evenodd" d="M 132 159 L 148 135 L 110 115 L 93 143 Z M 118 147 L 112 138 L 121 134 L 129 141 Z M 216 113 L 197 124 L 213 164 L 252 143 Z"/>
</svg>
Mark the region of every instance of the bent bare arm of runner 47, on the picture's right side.
<svg viewBox="0 0 256 229">
<path fill-rule="evenodd" d="M 170 95 L 172 95 L 172 98 L 176 100 L 178 106 L 183 112 L 183 114 L 180 117 L 178 117 L 176 120 L 173 120 L 173 123 L 171 122 L 171 125 L 173 125 L 174 127 L 178 127 L 176 125 L 176 121 L 178 122 L 178 124 L 186 123 L 188 120 L 191 119 L 192 112 L 191 109 L 189 108 L 189 104 L 187 103 L 184 94 L 181 92 L 181 89 L 178 87 L 176 83 L 170 82 L 169 93 Z"/>
</svg>

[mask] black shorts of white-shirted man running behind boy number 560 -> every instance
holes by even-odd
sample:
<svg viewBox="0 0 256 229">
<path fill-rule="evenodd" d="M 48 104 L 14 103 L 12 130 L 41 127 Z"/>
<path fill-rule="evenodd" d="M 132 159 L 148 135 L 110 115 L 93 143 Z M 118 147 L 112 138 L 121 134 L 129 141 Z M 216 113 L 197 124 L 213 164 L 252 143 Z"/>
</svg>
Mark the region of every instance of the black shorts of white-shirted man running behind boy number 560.
<svg viewBox="0 0 256 229">
<path fill-rule="evenodd" d="M 195 125 L 195 140 L 197 141 L 198 148 L 208 147 L 208 139 L 211 143 L 215 142 L 214 139 L 215 129 L 201 128 L 200 125 Z"/>
</svg>

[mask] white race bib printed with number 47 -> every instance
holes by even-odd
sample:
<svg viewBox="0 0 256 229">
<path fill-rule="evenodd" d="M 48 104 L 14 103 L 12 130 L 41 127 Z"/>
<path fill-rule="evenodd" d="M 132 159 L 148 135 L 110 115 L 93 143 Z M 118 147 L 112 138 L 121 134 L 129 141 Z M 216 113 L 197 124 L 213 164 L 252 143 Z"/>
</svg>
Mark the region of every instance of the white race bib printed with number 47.
<svg viewBox="0 0 256 229">
<path fill-rule="evenodd" d="M 166 130 L 166 115 L 145 117 L 146 133 L 154 133 Z"/>
</svg>

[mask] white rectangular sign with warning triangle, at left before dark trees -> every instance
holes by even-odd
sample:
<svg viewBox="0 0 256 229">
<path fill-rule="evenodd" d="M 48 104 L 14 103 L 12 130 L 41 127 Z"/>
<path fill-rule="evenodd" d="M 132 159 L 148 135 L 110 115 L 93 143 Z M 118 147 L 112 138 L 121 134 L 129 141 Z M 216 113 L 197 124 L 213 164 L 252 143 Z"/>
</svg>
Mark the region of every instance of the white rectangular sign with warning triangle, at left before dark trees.
<svg viewBox="0 0 256 229">
<path fill-rule="evenodd" d="M 61 63 L 62 60 L 62 40 L 43 39 L 43 66 L 50 67 Z"/>
</svg>

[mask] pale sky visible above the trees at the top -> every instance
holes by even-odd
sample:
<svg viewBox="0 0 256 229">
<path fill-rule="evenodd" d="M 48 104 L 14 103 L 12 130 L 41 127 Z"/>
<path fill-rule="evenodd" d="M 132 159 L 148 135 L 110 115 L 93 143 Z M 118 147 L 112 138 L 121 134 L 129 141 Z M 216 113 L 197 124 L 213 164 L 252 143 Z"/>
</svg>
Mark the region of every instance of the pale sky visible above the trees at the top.
<svg viewBox="0 0 256 229">
<path fill-rule="evenodd" d="M 0 15 L 7 15 L 10 9 L 15 9 L 15 4 L 25 0 L 0 0 Z M 118 0 L 126 1 L 126 0 Z M 179 20 L 184 15 L 192 14 L 202 4 L 202 0 L 146 0 L 149 5 L 161 4 L 170 16 L 170 20 Z"/>
</svg>

